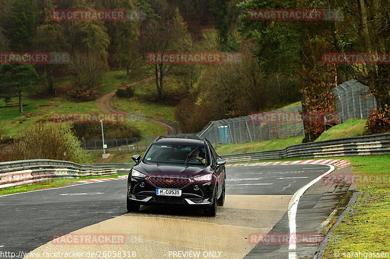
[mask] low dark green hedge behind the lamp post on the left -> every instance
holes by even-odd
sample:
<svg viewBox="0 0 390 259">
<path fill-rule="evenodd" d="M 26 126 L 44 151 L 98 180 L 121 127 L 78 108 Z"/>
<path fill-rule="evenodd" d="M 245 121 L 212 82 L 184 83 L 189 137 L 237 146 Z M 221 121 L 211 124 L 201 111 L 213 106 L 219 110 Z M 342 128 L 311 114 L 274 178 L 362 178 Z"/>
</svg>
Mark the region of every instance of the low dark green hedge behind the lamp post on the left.
<svg viewBox="0 0 390 259">
<path fill-rule="evenodd" d="M 100 124 L 74 123 L 73 130 L 78 139 L 101 139 Z M 104 138 L 134 138 L 141 137 L 139 130 L 129 123 L 103 124 Z"/>
</svg>

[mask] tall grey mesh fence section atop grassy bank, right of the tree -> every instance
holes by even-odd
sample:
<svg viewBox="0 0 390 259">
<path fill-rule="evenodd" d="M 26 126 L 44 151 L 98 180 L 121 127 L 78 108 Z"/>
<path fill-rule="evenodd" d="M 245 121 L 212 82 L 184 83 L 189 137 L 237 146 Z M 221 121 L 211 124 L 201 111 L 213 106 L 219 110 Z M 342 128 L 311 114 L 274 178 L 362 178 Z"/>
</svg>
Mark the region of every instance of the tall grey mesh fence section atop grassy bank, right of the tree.
<svg viewBox="0 0 390 259">
<path fill-rule="evenodd" d="M 331 90 L 335 96 L 339 123 L 367 119 L 370 116 L 370 110 L 376 109 L 376 100 L 368 91 L 368 86 L 356 80 L 345 82 Z"/>
</svg>

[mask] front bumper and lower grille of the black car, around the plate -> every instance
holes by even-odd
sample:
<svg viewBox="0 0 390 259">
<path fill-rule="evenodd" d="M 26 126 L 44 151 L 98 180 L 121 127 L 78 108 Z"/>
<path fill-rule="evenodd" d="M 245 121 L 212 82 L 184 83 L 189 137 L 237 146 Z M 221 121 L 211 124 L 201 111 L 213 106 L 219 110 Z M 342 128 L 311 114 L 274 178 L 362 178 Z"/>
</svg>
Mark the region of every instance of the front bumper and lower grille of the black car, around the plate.
<svg viewBox="0 0 390 259">
<path fill-rule="evenodd" d="M 215 184 L 212 182 L 192 182 L 174 190 L 181 190 L 181 196 L 156 195 L 156 189 L 170 189 L 152 184 L 147 179 L 131 177 L 128 180 L 128 199 L 139 204 L 169 204 L 188 206 L 210 206 L 213 203 Z"/>
</svg>

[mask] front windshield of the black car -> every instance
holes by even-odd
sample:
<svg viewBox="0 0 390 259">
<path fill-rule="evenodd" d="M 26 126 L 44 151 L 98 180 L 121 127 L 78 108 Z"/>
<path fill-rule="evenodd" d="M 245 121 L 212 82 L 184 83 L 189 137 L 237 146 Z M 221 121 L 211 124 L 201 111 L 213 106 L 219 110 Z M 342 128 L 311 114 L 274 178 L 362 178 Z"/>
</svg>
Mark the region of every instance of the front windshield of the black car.
<svg viewBox="0 0 390 259">
<path fill-rule="evenodd" d="M 186 144 L 153 144 L 144 155 L 143 162 L 208 165 L 209 155 L 205 146 Z"/>
</svg>

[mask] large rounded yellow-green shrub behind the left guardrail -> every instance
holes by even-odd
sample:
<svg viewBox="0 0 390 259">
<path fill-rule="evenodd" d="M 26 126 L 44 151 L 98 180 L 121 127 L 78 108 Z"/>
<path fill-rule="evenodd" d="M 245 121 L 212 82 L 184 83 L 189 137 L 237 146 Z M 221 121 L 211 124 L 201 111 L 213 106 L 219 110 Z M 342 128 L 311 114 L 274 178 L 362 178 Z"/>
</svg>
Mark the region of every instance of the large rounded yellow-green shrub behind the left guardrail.
<svg viewBox="0 0 390 259">
<path fill-rule="evenodd" d="M 17 160 L 55 159 L 85 163 L 88 159 L 67 123 L 39 122 L 27 128 L 13 151 Z"/>
</svg>

